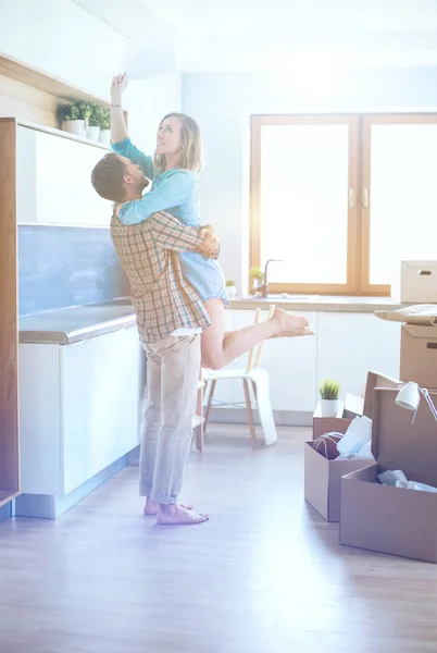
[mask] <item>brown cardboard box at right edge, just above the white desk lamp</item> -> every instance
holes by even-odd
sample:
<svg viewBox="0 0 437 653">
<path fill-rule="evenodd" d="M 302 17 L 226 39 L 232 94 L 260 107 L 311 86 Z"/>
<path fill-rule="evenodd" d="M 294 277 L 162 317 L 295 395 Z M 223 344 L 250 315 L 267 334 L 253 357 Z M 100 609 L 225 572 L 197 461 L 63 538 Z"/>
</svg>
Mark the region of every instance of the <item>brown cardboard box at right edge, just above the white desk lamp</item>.
<svg viewBox="0 0 437 653">
<path fill-rule="evenodd" d="M 437 326 L 402 325 L 400 378 L 437 387 Z"/>
</svg>

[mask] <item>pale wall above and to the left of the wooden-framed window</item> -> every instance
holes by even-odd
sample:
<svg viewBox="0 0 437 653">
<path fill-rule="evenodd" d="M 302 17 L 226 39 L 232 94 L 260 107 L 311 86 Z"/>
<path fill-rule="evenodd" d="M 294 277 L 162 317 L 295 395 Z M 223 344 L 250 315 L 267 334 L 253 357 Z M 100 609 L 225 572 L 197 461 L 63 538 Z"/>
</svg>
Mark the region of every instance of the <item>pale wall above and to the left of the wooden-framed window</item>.
<svg viewBox="0 0 437 653">
<path fill-rule="evenodd" d="M 437 110 L 437 70 L 361 71 L 342 77 L 190 74 L 183 110 L 203 134 L 202 221 L 216 225 L 227 279 L 246 283 L 249 249 L 250 115 Z"/>
</svg>

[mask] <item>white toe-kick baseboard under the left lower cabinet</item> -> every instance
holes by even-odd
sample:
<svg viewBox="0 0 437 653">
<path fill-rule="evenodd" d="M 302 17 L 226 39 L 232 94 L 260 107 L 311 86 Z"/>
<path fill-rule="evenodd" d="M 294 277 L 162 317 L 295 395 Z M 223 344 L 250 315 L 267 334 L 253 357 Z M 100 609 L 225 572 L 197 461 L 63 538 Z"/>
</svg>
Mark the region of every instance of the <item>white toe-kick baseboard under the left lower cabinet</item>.
<svg viewBox="0 0 437 653">
<path fill-rule="evenodd" d="M 135 449 L 134 449 L 135 451 Z M 21 494 L 15 500 L 16 517 L 36 517 L 39 519 L 58 519 L 70 510 L 75 504 L 97 490 L 115 473 L 129 465 L 129 454 L 122 456 L 112 465 L 97 473 L 95 477 L 66 494 L 65 496 L 53 496 L 45 494 Z"/>
</svg>

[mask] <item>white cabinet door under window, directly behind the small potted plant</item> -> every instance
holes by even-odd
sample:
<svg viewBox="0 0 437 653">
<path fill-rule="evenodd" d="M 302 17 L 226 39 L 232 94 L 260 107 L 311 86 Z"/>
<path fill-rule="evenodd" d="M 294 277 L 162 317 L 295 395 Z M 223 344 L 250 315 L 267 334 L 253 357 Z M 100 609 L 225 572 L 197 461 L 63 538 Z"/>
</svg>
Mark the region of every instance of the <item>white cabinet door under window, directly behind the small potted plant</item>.
<svg viewBox="0 0 437 653">
<path fill-rule="evenodd" d="M 373 313 L 317 313 L 317 385 L 333 378 L 361 396 L 369 370 L 399 378 L 400 323 Z"/>
</svg>

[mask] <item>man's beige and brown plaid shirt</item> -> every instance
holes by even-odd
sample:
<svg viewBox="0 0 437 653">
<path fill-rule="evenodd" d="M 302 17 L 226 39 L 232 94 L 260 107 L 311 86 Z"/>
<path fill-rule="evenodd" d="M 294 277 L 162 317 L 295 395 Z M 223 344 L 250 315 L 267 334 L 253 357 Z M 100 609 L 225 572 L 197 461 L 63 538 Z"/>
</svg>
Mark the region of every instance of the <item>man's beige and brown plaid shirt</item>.
<svg viewBox="0 0 437 653">
<path fill-rule="evenodd" d="M 124 225 L 113 214 L 111 236 L 130 283 L 141 342 L 155 343 L 175 329 L 208 326 L 203 305 L 185 280 L 179 251 L 201 250 L 199 231 L 159 211 L 140 224 Z"/>
</svg>

